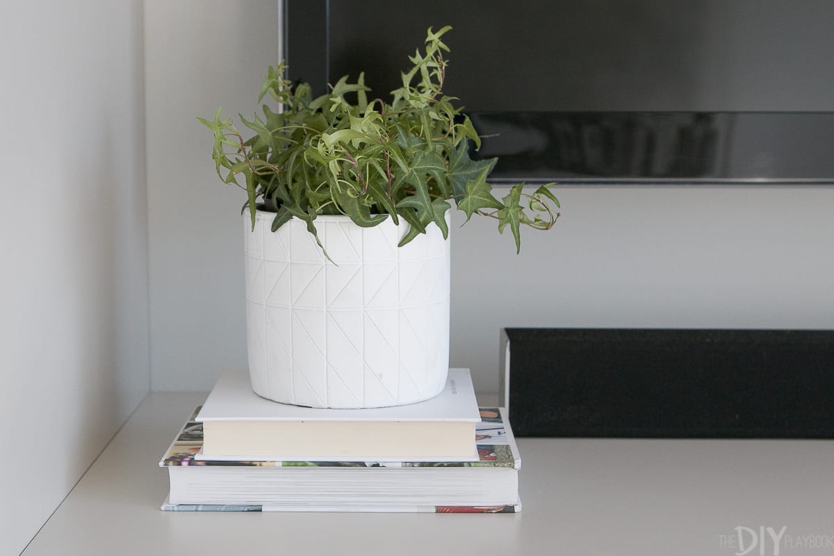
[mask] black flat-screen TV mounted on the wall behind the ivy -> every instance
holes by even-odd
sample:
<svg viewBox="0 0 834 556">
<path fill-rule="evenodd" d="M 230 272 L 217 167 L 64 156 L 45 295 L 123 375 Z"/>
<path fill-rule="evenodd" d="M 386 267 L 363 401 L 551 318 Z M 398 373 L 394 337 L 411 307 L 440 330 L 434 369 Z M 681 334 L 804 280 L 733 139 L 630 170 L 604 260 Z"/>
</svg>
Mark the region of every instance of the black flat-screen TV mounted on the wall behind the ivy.
<svg viewBox="0 0 834 556">
<path fill-rule="evenodd" d="M 445 90 L 496 183 L 832 183 L 834 3 L 284 0 L 289 78 L 399 86 L 451 25 Z"/>
</svg>

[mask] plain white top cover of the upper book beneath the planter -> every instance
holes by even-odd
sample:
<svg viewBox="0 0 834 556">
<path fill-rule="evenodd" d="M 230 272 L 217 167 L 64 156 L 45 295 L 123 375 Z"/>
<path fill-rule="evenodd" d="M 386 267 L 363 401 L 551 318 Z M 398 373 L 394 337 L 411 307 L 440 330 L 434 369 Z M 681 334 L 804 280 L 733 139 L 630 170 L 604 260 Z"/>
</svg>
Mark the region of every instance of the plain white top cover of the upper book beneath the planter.
<svg viewBox="0 0 834 556">
<path fill-rule="evenodd" d="M 457 421 L 480 423 L 468 368 L 450 368 L 443 392 L 420 403 L 393 408 L 322 409 L 278 403 L 252 391 L 249 371 L 229 369 L 208 395 L 197 421 Z"/>
</svg>

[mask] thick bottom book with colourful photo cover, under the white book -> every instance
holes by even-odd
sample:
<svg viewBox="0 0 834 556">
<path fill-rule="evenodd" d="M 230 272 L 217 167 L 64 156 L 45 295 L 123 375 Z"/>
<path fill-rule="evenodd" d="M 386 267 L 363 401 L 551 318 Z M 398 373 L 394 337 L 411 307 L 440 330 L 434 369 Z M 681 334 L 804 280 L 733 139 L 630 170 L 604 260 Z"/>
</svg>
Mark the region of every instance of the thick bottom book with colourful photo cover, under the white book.
<svg viewBox="0 0 834 556">
<path fill-rule="evenodd" d="M 474 462 L 217 461 L 194 458 L 203 423 L 181 428 L 159 465 L 168 468 L 168 511 L 520 511 L 518 448 L 500 408 L 480 408 Z"/>
</svg>

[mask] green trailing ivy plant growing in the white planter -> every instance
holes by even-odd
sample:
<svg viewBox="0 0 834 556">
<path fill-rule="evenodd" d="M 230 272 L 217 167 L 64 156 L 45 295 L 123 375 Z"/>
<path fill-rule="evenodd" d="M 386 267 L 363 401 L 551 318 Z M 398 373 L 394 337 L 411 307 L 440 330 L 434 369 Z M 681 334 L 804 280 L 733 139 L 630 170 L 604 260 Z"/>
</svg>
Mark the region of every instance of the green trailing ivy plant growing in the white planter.
<svg viewBox="0 0 834 556">
<path fill-rule="evenodd" d="M 389 101 L 369 95 L 364 73 L 314 98 L 308 83 L 285 79 L 279 63 L 269 68 L 258 100 L 269 95 L 282 109 L 264 104 L 263 117 L 240 115 L 252 137 L 221 118 L 220 109 L 214 119 L 198 118 L 214 133 L 220 178 L 246 191 L 253 228 L 258 208 L 275 213 L 273 231 L 300 218 L 321 246 L 319 214 L 344 214 L 363 227 L 391 218 L 409 225 L 402 246 L 431 223 L 447 238 L 445 213 L 454 201 L 467 222 L 477 213 L 498 220 L 501 233 L 509 227 L 518 252 L 521 225 L 553 226 L 559 201 L 552 183 L 532 193 L 519 183 L 499 199 L 487 182 L 497 158 L 470 158 L 470 141 L 480 148 L 480 137 L 443 90 L 449 48 L 441 38 L 449 30 L 429 28 L 424 53 L 409 56 L 412 66 Z"/>
</svg>

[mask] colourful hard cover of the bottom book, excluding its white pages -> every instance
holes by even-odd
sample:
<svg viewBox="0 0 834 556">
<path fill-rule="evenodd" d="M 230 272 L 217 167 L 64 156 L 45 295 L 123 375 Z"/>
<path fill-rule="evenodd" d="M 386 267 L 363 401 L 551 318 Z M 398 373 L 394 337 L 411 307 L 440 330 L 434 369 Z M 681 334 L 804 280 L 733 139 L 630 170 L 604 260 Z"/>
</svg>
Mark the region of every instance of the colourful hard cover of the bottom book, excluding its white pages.
<svg viewBox="0 0 834 556">
<path fill-rule="evenodd" d="M 168 451 L 159 462 L 160 467 L 174 466 L 227 466 L 227 467 L 500 467 L 519 469 L 521 460 L 506 421 L 504 408 L 480 408 L 481 422 L 475 430 L 475 445 L 479 461 L 476 462 L 289 462 L 289 461 L 214 461 L 195 459 L 203 445 L 203 423 L 194 420 L 200 407 L 195 408 L 188 422 L 180 429 Z M 411 506 L 406 504 L 321 506 L 306 504 L 184 504 L 162 505 L 166 511 L 204 512 L 269 512 L 269 511 L 339 511 L 339 512 L 432 512 L 432 513 L 515 513 L 520 503 L 495 506 Z"/>
</svg>

